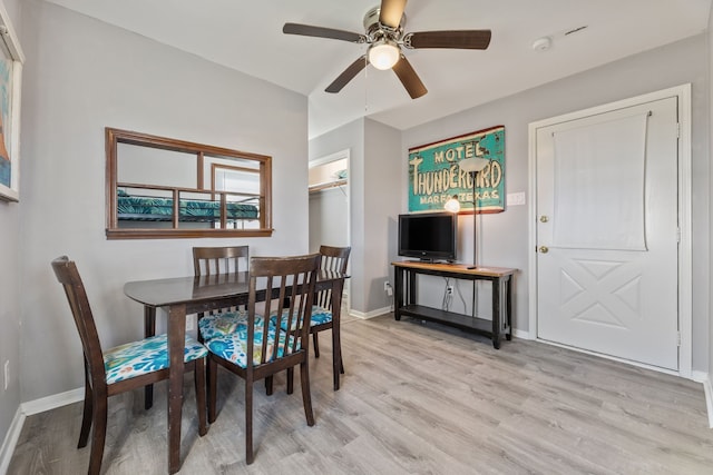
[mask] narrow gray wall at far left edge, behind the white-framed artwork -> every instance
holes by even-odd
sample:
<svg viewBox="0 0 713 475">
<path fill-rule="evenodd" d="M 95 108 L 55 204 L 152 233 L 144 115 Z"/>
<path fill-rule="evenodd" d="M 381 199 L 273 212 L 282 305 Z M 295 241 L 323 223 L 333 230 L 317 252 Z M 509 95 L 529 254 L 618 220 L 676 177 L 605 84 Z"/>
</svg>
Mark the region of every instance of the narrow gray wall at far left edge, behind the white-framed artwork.
<svg viewBox="0 0 713 475">
<path fill-rule="evenodd" d="M 20 0 L 3 0 L 10 21 L 25 47 L 20 17 Z M 20 129 L 25 127 L 21 125 Z M 21 148 L 20 148 L 20 151 Z M 21 156 L 20 156 L 21 157 Z M 2 370 L 6 362 L 10 362 L 8 390 L 0 386 L 0 444 L 4 441 L 18 407 L 20 393 L 20 216 L 22 202 L 0 201 L 0 382 L 4 380 Z M 2 383 L 0 383 L 2 384 Z M 0 453 L 1 455 L 1 453 Z"/>
</svg>

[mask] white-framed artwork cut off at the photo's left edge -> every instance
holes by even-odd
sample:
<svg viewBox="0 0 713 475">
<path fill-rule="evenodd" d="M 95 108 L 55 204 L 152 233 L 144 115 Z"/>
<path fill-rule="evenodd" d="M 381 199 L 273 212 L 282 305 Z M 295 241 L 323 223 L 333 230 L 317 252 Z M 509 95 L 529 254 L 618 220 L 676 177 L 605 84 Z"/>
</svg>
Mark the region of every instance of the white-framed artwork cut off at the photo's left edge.
<svg viewBox="0 0 713 475">
<path fill-rule="evenodd" d="M 25 56 L 0 3 L 0 199 L 20 200 L 20 90 Z"/>
</svg>

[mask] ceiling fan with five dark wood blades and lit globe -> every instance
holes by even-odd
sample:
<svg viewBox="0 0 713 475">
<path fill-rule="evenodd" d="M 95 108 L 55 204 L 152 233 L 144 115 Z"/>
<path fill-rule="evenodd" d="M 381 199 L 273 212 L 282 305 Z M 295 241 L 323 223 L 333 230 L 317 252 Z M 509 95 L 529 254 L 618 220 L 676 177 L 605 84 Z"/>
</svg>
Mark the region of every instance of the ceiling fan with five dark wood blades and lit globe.
<svg viewBox="0 0 713 475">
<path fill-rule="evenodd" d="M 393 69 L 411 99 L 417 99 L 428 90 L 406 59 L 401 47 L 487 49 L 491 32 L 490 30 L 446 30 L 404 33 L 406 2 L 407 0 L 381 0 L 381 6 L 372 8 L 364 16 L 364 34 L 301 23 L 285 23 L 282 32 L 369 44 L 367 53 L 339 75 L 328 86 L 326 92 L 341 91 L 368 63 L 371 63 L 377 69 Z"/>
</svg>

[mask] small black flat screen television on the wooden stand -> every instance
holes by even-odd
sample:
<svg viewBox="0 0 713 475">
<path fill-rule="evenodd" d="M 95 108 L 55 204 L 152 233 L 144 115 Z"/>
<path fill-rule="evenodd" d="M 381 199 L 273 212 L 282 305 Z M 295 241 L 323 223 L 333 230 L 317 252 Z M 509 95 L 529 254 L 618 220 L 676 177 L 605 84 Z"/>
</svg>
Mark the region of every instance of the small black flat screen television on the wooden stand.
<svg viewBox="0 0 713 475">
<path fill-rule="evenodd" d="M 421 260 L 456 260 L 458 215 L 399 215 L 399 256 Z"/>
</svg>

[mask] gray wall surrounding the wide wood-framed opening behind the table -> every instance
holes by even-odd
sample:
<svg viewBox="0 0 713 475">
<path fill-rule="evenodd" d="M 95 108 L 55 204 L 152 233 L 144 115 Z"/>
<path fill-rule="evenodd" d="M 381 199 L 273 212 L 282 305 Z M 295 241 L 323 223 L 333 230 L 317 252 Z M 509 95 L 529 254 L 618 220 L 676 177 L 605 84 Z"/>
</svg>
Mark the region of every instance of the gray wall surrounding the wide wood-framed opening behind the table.
<svg viewBox="0 0 713 475">
<path fill-rule="evenodd" d="M 33 400 L 82 385 L 52 258 L 77 261 L 109 347 L 143 335 L 141 307 L 124 284 L 192 275 L 194 245 L 246 244 L 252 256 L 307 251 L 307 101 L 51 3 L 23 8 L 33 34 L 23 44 L 22 330 L 14 339 L 25 342 L 21 399 Z M 273 237 L 107 240 L 106 126 L 272 156 Z"/>
</svg>

